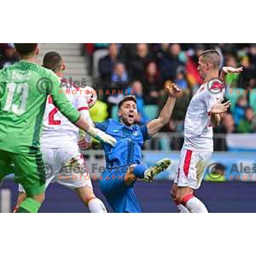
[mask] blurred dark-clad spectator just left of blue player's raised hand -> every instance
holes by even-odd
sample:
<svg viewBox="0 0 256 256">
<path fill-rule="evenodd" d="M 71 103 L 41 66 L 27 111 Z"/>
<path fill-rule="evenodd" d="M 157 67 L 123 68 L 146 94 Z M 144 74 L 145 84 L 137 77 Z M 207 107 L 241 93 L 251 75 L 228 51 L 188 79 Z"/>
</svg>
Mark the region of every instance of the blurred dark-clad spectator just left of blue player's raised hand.
<svg viewBox="0 0 256 256">
<path fill-rule="evenodd" d="M 146 104 L 158 104 L 160 90 L 163 90 L 163 80 L 157 70 L 157 64 L 150 62 L 146 67 L 143 79 L 143 93 Z"/>
</svg>

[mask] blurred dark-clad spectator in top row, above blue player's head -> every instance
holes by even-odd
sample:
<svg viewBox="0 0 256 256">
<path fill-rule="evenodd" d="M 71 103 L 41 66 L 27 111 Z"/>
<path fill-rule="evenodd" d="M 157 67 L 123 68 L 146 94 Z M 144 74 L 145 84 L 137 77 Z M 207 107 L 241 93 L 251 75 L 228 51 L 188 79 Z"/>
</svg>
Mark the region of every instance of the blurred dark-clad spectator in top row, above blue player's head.
<svg viewBox="0 0 256 256">
<path fill-rule="evenodd" d="M 148 44 L 137 44 L 137 55 L 131 60 L 129 67 L 131 79 L 143 81 L 146 66 L 151 60 Z"/>
</svg>

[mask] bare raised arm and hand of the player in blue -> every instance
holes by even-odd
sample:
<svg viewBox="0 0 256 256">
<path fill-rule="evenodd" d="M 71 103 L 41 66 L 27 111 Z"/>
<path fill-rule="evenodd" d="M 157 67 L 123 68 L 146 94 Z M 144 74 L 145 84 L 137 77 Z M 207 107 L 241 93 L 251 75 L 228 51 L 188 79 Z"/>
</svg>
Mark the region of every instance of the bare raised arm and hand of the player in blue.
<svg viewBox="0 0 256 256">
<path fill-rule="evenodd" d="M 181 90 L 177 87 L 176 84 L 167 85 L 165 88 L 169 97 L 164 105 L 160 115 L 157 119 L 154 119 L 147 124 L 148 134 L 149 136 L 153 136 L 158 131 L 160 131 L 170 120 L 172 116 L 172 111 L 175 105 L 176 97 L 181 92 Z"/>
</svg>

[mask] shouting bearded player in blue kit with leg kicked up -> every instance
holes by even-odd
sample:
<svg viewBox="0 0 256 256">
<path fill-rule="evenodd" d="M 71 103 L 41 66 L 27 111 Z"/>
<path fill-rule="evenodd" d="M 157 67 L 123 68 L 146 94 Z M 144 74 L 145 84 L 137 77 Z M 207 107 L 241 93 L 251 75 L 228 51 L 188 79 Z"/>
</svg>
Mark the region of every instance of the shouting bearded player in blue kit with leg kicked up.
<svg viewBox="0 0 256 256">
<path fill-rule="evenodd" d="M 100 188 L 114 212 L 142 212 L 134 193 L 137 179 L 148 182 L 165 171 L 171 164 L 170 159 L 158 161 L 148 168 L 142 163 L 142 146 L 169 122 L 175 99 L 180 89 L 175 84 L 166 88 L 169 97 L 159 117 L 147 125 L 134 124 L 137 116 L 137 101 L 134 96 L 125 96 L 119 103 L 118 115 L 120 122 L 108 119 L 95 123 L 96 128 L 116 139 L 114 147 L 104 143 L 106 171 L 100 179 Z"/>
</svg>

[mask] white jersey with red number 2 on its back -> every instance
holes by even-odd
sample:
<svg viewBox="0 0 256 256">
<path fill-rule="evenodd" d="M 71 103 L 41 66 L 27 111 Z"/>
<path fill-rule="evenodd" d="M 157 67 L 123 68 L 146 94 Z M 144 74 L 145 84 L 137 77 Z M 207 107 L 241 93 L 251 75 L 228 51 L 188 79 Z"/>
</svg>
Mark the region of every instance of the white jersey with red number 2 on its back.
<svg viewBox="0 0 256 256">
<path fill-rule="evenodd" d="M 76 88 L 70 88 L 70 84 L 68 84 L 68 87 L 62 87 L 61 90 L 66 94 L 72 105 L 78 111 L 88 111 L 89 107 L 84 95 L 73 93 L 72 91 Z M 79 128 L 61 114 L 58 108 L 53 105 L 52 97 L 48 96 L 41 132 L 41 146 L 44 148 L 77 146 L 78 139 Z"/>
</svg>

